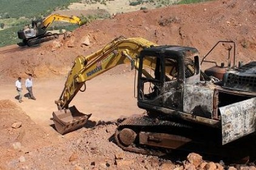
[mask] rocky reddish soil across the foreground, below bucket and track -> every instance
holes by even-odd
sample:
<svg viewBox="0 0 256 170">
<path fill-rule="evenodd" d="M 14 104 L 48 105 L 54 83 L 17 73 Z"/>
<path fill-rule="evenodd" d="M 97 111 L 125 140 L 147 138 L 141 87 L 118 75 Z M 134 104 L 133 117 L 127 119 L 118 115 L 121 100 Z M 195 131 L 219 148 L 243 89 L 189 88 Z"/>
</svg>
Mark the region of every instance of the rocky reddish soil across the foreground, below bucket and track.
<svg viewBox="0 0 256 170">
<path fill-rule="evenodd" d="M 0 169 L 256 169 L 252 162 L 234 167 L 196 153 L 182 160 L 123 151 L 113 140 L 117 120 L 52 136 L 10 100 L 0 100 L 0 110 Z"/>
</svg>

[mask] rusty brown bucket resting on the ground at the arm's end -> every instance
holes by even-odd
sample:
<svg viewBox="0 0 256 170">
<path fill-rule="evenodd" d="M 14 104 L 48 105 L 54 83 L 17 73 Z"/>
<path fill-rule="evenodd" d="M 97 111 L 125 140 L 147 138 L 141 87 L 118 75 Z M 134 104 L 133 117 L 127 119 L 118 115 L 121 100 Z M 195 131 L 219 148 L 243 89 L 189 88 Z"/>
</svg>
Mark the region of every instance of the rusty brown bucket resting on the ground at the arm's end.
<svg viewBox="0 0 256 170">
<path fill-rule="evenodd" d="M 79 112 L 75 106 L 52 113 L 55 128 L 60 134 L 83 127 L 91 115 Z"/>
</svg>

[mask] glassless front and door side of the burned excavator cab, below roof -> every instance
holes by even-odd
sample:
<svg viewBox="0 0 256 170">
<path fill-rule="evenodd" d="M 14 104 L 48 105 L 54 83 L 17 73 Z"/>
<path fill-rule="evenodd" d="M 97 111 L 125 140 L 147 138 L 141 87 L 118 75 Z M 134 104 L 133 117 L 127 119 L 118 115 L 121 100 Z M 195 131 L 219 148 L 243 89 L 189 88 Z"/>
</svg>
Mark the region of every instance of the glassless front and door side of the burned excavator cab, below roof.
<svg viewBox="0 0 256 170">
<path fill-rule="evenodd" d="M 142 56 L 138 75 L 138 100 L 173 110 L 182 110 L 178 60 L 165 54 Z"/>
</svg>

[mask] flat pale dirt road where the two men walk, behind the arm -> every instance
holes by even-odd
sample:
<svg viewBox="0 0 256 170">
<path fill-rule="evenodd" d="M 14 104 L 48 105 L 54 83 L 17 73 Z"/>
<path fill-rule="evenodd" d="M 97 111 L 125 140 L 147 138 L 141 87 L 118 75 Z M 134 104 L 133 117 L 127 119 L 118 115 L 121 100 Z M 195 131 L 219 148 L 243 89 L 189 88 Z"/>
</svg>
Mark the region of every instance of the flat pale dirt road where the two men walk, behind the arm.
<svg viewBox="0 0 256 170">
<path fill-rule="evenodd" d="M 133 79 L 133 72 L 96 77 L 87 82 L 86 92 L 78 93 L 70 106 L 75 105 L 79 111 L 86 114 L 92 113 L 90 119 L 95 121 L 109 121 L 120 116 L 143 113 L 143 110 L 136 106 L 136 99 L 133 97 Z M 1 84 L 0 100 L 10 99 L 18 103 L 33 121 L 49 128 L 53 123 L 50 120 L 52 112 L 57 110 L 54 101 L 61 94 L 65 81 L 64 76 L 55 79 L 34 79 L 33 91 L 36 100 L 23 97 L 22 103 L 15 99 L 15 82 Z M 25 79 L 22 80 L 23 94 L 27 93 L 24 82 Z"/>
</svg>

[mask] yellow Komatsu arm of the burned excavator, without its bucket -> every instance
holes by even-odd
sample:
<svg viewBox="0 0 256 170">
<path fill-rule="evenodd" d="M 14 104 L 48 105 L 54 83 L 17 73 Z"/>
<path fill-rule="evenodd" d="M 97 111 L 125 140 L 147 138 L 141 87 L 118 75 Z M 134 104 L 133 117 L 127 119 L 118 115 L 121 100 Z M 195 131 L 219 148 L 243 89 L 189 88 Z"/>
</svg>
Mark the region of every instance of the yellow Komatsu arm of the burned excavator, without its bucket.
<svg viewBox="0 0 256 170">
<path fill-rule="evenodd" d="M 121 36 L 89 56 L 76 57 L 61 96 L 55 102 L 59 110 L 69 107 L 69 103 L 87 80 L 93 79 L 120 64 L 132 63 L 135 68 L 138 68 L 136 56 L 143 48 L 151 45 L 156 44 L 143 38 L 126 39 Z"/>
</svg>

